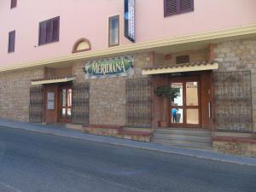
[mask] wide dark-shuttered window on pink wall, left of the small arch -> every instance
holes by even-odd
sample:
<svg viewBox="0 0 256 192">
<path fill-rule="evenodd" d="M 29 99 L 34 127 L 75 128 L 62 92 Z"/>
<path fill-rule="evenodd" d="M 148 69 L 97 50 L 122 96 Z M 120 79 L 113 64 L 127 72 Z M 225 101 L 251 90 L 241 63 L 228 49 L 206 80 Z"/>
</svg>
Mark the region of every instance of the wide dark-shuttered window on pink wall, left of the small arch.
<svg viewBox="0 0 256 192">
<path fill-rule="evenodd" d="M 59 41 L 60 17 L 44 20 L 39 23 L 38 45 L 49 44 Z"/>
</svg>

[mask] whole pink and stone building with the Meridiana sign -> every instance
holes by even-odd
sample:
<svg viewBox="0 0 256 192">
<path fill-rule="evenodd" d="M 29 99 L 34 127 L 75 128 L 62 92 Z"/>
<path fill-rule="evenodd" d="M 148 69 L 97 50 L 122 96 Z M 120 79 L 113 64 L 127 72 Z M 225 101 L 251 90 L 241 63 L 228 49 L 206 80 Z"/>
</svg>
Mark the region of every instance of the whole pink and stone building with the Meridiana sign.
<svg viewBox="0 0 256 192">
<path fill-rule="evenodd" d="M 139 141 L 207 130 L 214 149 L 256 156 L 255 7 L 3 0 L 0 117 Z M 156 96 L 166 85 L 175 98 Z"/>
</svg>

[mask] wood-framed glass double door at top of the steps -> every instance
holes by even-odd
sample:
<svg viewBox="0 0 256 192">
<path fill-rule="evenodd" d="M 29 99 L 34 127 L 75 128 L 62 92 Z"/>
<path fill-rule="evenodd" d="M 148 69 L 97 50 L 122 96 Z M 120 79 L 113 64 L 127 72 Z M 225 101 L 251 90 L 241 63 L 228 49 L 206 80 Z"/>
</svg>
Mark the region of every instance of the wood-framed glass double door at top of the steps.
<svg viewBox="0 0 256 192">
<path fill-rule="evenodd" d="M 171 127 L 201 128 L 201 102 L 199 79 L 171 81 L 177 96 L 170 102 Z"/>
</svg>

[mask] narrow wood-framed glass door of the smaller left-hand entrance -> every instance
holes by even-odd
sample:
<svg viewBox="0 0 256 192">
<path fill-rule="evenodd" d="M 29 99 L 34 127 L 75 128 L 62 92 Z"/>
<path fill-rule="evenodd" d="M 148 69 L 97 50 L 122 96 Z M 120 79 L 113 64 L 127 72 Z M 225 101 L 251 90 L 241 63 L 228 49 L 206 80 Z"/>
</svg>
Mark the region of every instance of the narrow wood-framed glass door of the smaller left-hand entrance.
<svg viewBox="0 0 256 192">
<path fill-rule="evenodd" d="M 59 90 L 59 121 L 69 123 L 72 115 L 72 89 L 71 86 L 62 86 Z"/>
</svg>

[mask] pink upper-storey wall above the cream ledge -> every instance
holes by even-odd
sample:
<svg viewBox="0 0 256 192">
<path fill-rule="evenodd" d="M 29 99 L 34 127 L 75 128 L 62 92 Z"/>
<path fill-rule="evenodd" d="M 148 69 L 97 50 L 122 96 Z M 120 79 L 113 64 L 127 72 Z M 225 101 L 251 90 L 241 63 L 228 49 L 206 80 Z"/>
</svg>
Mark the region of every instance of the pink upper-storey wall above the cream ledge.
<svg viewBox="0 0 256 192">
<path fill-rule="evenodd" d="M 163 0 L 137 0 L 137 42 L 169 38 L 256 23 L 255 0 L 195 0 L 195 11 L 164 18 Z M 50 6 L 49 6 L 50 5 Z M 0 67 L 70 55 L 79 38 L 92 50 L 108 48 L 108 16 L 120 15 L 120 44 L 124 38 L 124 0 L 0 1 Z M 61 16 L 60 41 L 38 45 L 38 23 Z M 8 54 L 8 33 L 16 31 L 15 53 Z"/>
</svg>

